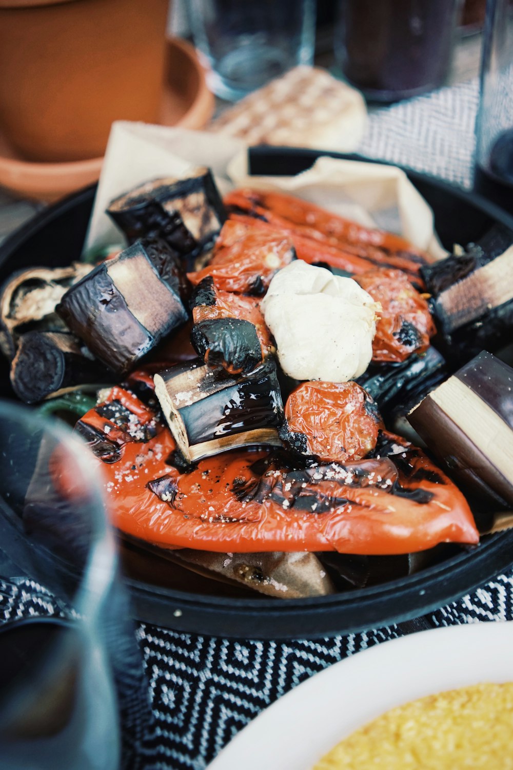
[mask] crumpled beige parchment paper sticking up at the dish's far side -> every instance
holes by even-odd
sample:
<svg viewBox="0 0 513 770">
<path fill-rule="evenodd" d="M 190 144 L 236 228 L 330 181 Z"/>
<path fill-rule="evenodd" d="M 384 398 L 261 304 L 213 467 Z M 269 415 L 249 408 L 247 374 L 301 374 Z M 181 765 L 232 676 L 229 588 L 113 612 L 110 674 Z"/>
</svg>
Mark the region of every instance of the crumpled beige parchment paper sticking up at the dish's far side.
<svg viewBox="0 0 513 770">
<path fill-rule="evenodd" d="M 396 166 L 321 157 L 297 176 L 249 176 L 248 148 L 219 134 L 117 121 L 112 124 L 85 251 L 122 243 L 105 209 L 115 197 L 162 176 L 182 176 L 208 166 L 222 193 L 252 186 L 290 192 L 355 219 L 402 235 L 432 259 L 446 255 L 435 234 L 431 208 Z"/>
</svg>

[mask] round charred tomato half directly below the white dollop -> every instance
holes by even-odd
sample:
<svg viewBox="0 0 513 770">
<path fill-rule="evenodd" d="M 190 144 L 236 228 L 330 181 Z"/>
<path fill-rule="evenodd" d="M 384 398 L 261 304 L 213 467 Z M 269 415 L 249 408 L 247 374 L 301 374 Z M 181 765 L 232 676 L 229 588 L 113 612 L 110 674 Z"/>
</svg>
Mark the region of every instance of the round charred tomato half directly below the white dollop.
<svg viewBox="0 0 513 770">
<path fill-rule="evenodd" d="M 309 460 L 345 463 L 375 448 L 380 424 L 375 403 L 357 383 L 308 382 L 288 397 L 280 436 Z"/>
</svg>

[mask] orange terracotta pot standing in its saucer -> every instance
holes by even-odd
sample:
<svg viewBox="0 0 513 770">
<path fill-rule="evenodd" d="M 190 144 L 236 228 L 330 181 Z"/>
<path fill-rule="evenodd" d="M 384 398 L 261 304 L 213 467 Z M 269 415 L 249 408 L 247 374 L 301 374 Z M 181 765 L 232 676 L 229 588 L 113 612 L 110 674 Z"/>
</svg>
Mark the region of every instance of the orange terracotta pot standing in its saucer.
<svg viewBox="0 0 513 770">
<path fill-rule="evenodd" d="M 102 156 L 158 119 L 169 0 L 0 0 L 0 129 L 26 159 Z"/>
</svg>

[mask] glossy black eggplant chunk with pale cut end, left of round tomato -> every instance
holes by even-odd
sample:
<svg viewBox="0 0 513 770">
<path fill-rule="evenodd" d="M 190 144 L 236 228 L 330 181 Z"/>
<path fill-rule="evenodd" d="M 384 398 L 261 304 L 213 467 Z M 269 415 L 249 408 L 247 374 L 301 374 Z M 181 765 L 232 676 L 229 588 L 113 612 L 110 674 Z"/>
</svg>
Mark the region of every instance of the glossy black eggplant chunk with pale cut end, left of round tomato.
<svg viewBox="0 0 513 770">
<path fill-rule="evenodd" d="M 234 447 L 280 446 L 283 407 L 274 360 L 248 376 L 201 361 L 155 374 L 155 395 L 188 463 Z"/>
</svg>

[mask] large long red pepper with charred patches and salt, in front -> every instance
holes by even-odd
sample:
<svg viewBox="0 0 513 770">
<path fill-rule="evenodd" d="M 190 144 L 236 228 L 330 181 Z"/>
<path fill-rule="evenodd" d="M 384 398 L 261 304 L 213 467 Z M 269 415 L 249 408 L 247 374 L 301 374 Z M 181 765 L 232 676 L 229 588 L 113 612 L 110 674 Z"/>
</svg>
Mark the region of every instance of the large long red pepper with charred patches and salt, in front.
<svg viewBox="0 0 513 770">
<path fill-rule="evenodd" d="M 115 424 L 112 441 L 99 420 L 96 407 L 78 425 L 92 427 L 97 444 L 103 435 L 120 456 L 107 457 L 102 474 L 115 526 L 163 547 L 372 555 L 478 542 L 459 490 L 393 434 L 382 434 L 375 457 L 350 464 L 298 470 L 279 455 L 236 450 L 181 473 L 170 460 L 175 441 L 157 417 L 146 441 Z"/>
</svg>

